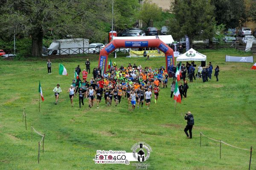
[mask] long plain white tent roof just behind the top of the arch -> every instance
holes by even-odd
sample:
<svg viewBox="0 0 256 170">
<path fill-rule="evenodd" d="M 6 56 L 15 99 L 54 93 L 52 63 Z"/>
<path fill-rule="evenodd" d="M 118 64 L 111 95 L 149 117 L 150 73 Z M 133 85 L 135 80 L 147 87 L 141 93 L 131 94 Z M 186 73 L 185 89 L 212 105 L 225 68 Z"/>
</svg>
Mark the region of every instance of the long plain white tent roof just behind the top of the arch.
<svg viewBox="0 0 256 170">
<path fill-rule="evenodd" d="M 159 39 L 166 44 L 173 43 L 172 35 L 158 35 Z M 151 40 L 157 39 L 156 36 L 137 36 L 137 37 L 113 37 L 114 40 Z"/>
</svg>

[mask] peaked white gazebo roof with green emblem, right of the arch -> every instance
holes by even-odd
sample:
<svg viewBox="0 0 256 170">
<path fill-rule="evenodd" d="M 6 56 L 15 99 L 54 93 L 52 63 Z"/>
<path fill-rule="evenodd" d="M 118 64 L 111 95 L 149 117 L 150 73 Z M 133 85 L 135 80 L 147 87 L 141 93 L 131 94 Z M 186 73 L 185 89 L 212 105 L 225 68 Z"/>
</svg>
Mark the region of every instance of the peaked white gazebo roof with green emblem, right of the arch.
<svg viewBox="0 0 256 170">
<path fill-rule="evenodd" d="M 176 61 L 206 61 L 206 55 L 195 51 L 195 49 L 189 49 L 189 51 L 179 55 Z"/>
</svg>

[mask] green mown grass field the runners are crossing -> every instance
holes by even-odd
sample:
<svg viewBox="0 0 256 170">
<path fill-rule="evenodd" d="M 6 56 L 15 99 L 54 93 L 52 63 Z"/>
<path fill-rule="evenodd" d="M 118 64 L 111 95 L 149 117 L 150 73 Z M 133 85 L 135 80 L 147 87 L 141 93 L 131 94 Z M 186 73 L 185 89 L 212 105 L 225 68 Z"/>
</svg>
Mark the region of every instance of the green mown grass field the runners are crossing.
<svg viewBox="0 0 256 170">
<path fill-rule="evenodd" d="M 189 83 L 188 97 L 177 104 L 170 98 L 170 81 L 161 89 L 159 101 L 131 111 L 126 99 L 117 107 L 89 108 L 87 101 L 79 109 L 78 98 L 71 107 L 67 90 L 72 83 L 73 70 L 85 57 L 52 59 L 52 75 L 47 74 L 47 59 L 27 61 L 0 61 L 0 169 L 25 170 L 134 170 L 125 164 L 95 164 L 96 150 L 125 150 L 131 152 L 133 144 L 144 141 L 152 148 L 150 170 L 247 170 L 250 152 L 202 138 L 205 135 L 237 147 L 256 148 L 256 72 L 253 63 L 226 63 L 225 55 L 246 56 L 232 50 L 201 51 L 220 66 L 219 82 Z M 98 56 L 90 56 L 91 68 L 97 65 Z M 137 65 L 158 68 L 165 66 L 164 58 L 124 58 L 117 56 L 117 65 Z M 68 76 L 58 76 L 58 63 L 68 71 Z M 198 63 L 195 63 L 198 64 Z M 90 78 L 90 77 L 89 77 Z M 45 101 L 38 112 L 38 82 Z M 55 105 L 52 89 L 60 83 L 62 93 Z M 26 108 L 28 130 L 22 122 Z M 191 111 L 195 118 L 193 139 L 183 132 L 186 122 L 180 113 Z M 37 163 L 39 135 L 31 125 L 45 133 L 45 151 Z M 253 151 L 251 170 L 256 170 L 256 153 Z M 132 162 L 131 162 L 132 163 Z"/>
</svg>

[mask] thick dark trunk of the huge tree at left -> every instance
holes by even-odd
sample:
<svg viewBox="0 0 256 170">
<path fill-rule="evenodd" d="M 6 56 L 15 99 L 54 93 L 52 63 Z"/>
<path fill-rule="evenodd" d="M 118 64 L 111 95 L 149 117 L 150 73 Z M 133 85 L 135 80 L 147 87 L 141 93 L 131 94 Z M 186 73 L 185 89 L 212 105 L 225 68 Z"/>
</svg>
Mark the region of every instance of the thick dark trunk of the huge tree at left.
<svg viewBox="0 0 256 170">
<path fill-rule="evenodd" d="M 32 57 L 42 57 L 43 32 L 41 29 L 32 34 Z"/>
</svg>

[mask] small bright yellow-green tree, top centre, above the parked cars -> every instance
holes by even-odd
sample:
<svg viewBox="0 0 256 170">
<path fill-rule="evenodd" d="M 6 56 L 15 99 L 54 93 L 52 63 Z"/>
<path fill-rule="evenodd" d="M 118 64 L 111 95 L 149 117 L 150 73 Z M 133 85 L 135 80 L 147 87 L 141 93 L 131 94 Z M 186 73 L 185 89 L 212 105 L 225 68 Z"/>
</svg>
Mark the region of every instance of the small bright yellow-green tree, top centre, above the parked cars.
<svg viewBox="0 0 256 170">
<path fill-rule="evenodd" d="M 150 3 L 148 0 L 145 0 L 140 11 L 140 19 L 143 20 L 148 27 L 150 20 L 161 19 L 161 9 L 156 3 Z"/>
</svg>

